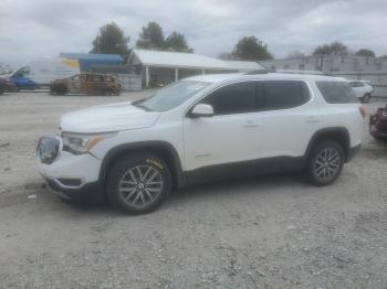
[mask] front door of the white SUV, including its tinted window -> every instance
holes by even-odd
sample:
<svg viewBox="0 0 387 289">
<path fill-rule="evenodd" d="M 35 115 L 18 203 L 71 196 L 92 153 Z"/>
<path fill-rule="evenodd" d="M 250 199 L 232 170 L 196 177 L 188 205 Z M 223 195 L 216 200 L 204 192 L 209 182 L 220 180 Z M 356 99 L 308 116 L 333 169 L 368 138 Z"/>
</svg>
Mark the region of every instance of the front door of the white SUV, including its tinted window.
<svg viewBox="0 0 387 289">
<path fill-rule="evenodd" d="M 254 82 L 220 87 L 200 101 L 213 107 L 212 117 L 184 118 L 185 170 L 259 158 L 255 88 Z"/>
</svg>

